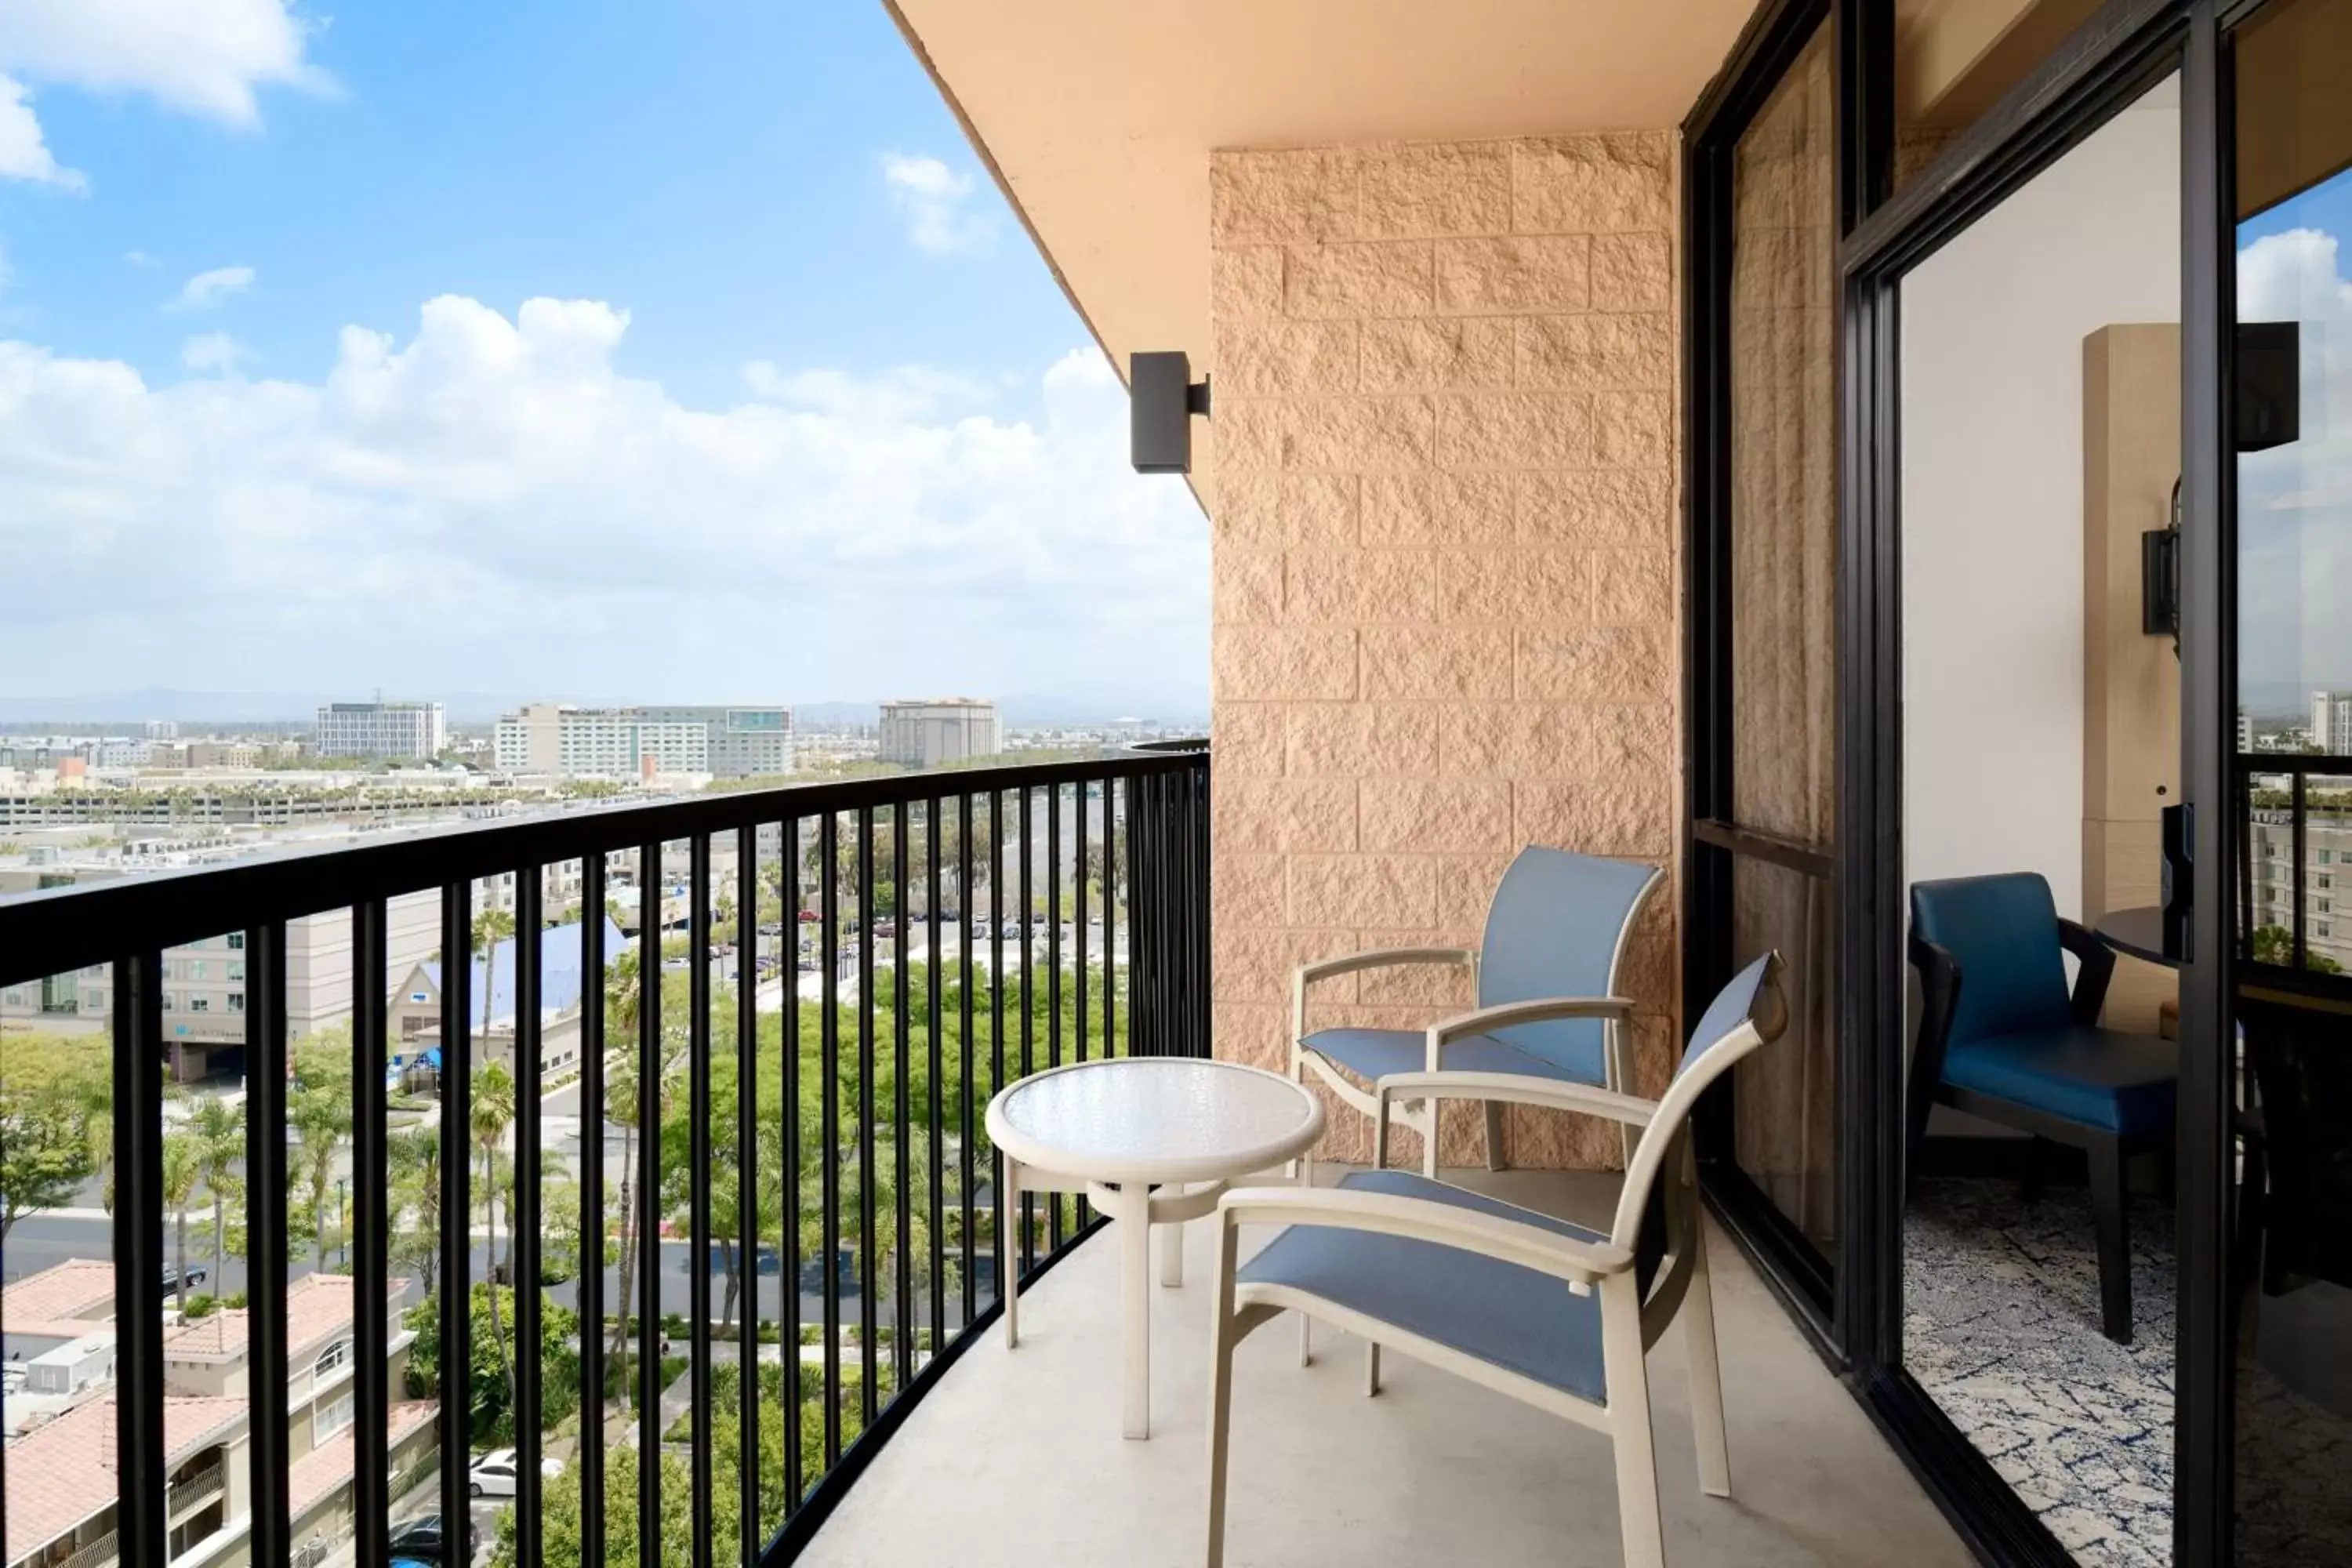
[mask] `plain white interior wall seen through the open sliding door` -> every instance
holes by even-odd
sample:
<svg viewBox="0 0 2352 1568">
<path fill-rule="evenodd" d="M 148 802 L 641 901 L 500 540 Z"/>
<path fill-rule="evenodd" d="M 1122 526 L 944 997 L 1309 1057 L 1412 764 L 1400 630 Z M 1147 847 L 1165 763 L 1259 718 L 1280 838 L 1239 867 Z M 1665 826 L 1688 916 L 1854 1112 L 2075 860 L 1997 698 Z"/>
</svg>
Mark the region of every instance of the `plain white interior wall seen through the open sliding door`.
<svg viewBox="0 0 2352 1568">
<path fill-rule="evenodd" d="M 2180 320 L 2178 169 L 2166 82 L 1903 282 L 1910 882 L 2084 910 L 2084 339 Z"/>
</svg>

